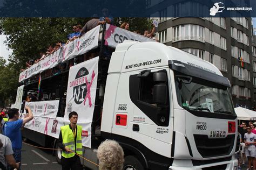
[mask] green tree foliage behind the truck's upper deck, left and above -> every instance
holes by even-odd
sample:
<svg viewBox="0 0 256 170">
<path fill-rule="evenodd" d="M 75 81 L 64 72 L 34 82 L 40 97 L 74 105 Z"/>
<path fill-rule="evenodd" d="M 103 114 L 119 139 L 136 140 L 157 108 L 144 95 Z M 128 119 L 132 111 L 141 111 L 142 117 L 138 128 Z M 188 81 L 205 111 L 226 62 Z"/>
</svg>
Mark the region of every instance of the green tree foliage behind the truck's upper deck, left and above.
<svg viewBox="0 0 256 170">
<path fill-rule="evenodd" d="M 49 45 L 57 41 L 66 41 L 72 33 L 73 25 L 84 24 L 91 18 L 0 18 L 0 34 L 6 36 L 5 44 L 13 50 L 9 64 L 0 57 L 0 102 L 15 100 L 18 87 L 19 70 L 25 68 L 25 62 L 40 58 L 40 52 L 46 52 Z M 130 31 L 143 33 L 151 29 L 147 18 L 114 18 L 114 25 L 123 22 L 130 24 Z M 14 101 L 15 102 L 15 101 Z M 1 104 L 1 103 L 0 103 Z"/>
</svg>

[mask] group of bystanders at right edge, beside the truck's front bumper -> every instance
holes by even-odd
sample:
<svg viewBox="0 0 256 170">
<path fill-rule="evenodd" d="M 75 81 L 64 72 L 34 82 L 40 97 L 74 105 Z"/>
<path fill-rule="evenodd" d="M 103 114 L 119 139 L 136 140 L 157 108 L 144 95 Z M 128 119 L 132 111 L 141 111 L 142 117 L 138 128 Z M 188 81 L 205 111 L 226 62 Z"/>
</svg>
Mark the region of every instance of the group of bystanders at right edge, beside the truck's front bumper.
<svg viewBox="0 0 256 170">
<path fill-rule="evenodd" d="M 256 122 L 242 122 L 238 127 L 240 137 L 240 152 L 237 154 L 238 168 L 246 166 L 247 157 L 247 170 L 256 169 Z"/>
</svg>

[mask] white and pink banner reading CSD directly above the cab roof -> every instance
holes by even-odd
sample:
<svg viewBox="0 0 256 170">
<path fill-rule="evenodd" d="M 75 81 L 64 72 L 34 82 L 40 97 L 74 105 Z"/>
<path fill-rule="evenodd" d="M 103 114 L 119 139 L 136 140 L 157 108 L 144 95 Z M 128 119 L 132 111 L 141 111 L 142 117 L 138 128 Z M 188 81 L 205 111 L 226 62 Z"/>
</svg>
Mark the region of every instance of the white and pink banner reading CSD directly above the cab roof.
<svg viewBox="0 0 256 170">
<path fill-rule="evenodd" d="M 105 45 L 110 46 L 112 48 L 116 48 L 119 43 L 122 43 L 124 40 L 133 40 L 139 42 L 146 41 L 156 41 L 151 38 L 147 38 L 141 36 L 137 33 L 133 33 L 131 31 L 127 31 L 125 29 L 121 29 L 117 26 L 106 24 L 106 32 L 105 32 Z"/>
</svg>

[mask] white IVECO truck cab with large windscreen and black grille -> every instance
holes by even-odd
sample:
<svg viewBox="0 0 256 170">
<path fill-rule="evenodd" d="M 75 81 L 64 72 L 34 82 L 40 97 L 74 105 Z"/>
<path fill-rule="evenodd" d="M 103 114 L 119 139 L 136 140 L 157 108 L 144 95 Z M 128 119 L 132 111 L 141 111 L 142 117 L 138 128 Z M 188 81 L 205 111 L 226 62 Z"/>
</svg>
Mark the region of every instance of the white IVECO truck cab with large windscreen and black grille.
<svg viewBox="0 0 256 170">
<path fill-rule="evenodd" d="M 122 145 L 124 169 L 234 169 L 229 89 L 210 62 L 158 42 L 125 41 L 111 56 L 101 135 Z"/>
</svg>

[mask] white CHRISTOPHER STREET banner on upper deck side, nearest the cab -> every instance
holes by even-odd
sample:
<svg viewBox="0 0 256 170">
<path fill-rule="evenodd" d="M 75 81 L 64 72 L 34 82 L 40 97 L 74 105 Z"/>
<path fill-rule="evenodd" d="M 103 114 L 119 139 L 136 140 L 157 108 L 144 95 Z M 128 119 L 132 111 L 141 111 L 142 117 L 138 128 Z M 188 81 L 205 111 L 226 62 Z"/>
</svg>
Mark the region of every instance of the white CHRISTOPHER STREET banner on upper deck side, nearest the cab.
<svg viewBox="0 0 256 170">
<path fill-rule="evenodd" d="M 62 62 L 70 60 L 77 55 L 82 55 L 93 48 L 98 47 L 100 25 L 86 32 L 82 37 L 71 41 L 64 46 L 64 56 Z"/>
</svg>

